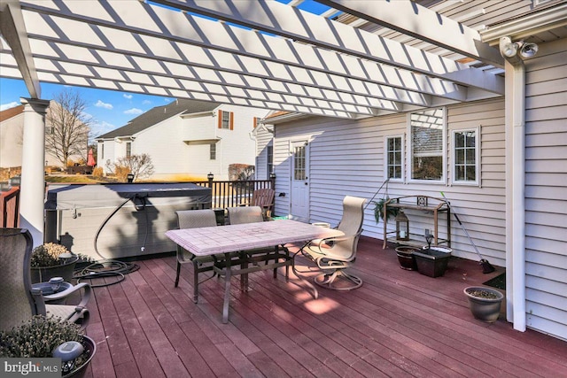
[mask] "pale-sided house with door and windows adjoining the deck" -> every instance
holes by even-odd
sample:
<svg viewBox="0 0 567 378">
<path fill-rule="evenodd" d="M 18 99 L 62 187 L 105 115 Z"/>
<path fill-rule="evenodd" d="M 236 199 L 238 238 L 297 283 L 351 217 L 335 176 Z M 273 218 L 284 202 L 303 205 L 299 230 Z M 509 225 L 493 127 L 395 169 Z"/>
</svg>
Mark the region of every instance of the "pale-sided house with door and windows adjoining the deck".
<svg viewBox="0 0 567 378">
<path fill-rule="evenodd" d="M 529 35 L 522 20 L 535 16 L 525 16 L 495 27 Z M 370 199 L 388 179 L 376 199 L 443 191 L 485 258 L 506 266 L 508 320 L 567 339 L 567 38 L 538 44 L 535 57 L 507 62 L 500 98 L 360 120 L 292 112 L 262 120 L 256 169 L 266 174 L 272 145 L 276 215 L 337 225 L 343 197 Z M 363 235 L 383 239 L 373 208 Z M 432 227 L 431 214 L 407 215 L 415 235 Z M 454 256 L 478 260 L 454 218 L 451 233 Z"/>
</svg>

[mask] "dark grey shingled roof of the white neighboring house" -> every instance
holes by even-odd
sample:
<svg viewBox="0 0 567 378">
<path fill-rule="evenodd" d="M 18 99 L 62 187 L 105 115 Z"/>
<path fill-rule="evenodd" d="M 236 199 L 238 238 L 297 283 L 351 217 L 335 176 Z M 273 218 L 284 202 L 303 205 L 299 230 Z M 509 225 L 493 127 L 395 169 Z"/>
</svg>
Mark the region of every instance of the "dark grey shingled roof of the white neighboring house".
<svg viewBox="0 0 567 378">
<path fill-rule="evenodd" d="M 175 117 L 178 114 L 190 114 L 198 112 L 211 112 L 220 104 L 207 101 L 195 101 L 178 99 L 171 104 L 156 106 L 144 114 L 140 114 L 134 120 L 130 120 L 127 125 L 119 127 L 109 133 L 98 136 L 96 139 L 112 139 L 121 136 L 131 136 L 144 131 L 163 120 Z"/>
</svg>

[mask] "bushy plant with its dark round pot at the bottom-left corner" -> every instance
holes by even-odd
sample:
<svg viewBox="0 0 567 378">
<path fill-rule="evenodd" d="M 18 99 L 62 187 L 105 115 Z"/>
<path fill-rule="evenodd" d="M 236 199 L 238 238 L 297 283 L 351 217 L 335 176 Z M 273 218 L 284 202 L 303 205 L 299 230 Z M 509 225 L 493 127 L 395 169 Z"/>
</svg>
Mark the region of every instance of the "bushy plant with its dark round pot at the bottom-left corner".
<svg viewBox="0 0 567 378">
<path fill-rule="evenodd" d="M 63 378 L 82 377 L 91 359 L 97 352 L 97 345 L 89 336 L 82 334 L 74 323 L 58 318 L 34 316 L 27 323 L 9 331 L 0 332 L 0 357 L 19 359 L 52 358 L 54 351 L 64 343 L 81 344 L 78 357 L 62 360 L 60 366 Z"/>
</svg>

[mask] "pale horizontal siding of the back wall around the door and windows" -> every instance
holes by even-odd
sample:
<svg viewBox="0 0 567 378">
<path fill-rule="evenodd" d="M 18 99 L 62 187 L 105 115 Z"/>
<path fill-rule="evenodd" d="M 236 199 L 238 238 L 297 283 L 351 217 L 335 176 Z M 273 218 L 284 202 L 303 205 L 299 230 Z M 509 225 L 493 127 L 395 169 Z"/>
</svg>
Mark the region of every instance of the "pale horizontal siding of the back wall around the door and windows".
<svg viewBox="0 0 567 378">
<path fill-rule="evenodd" d="M 451 184 L 451 133 L 454 129 L 479 127 L 481 139 L 481 185 Z M 275 165 L 276 214 L 290 208 L 290 141 L 305 138 L 309 143 L 310 221 L 337 225 L 346 195 L 370 199 L 384 182 L 384 137 L 404 135 L 407 144 L 407 115 L 396 114 L 364 120 L 309 118 L 276 126 Z M 440 197 L 444 191 L 477 244 L 493 265 L 505 263 L 504 101 L 501 99 L 447 108 L 447 185 L 390 182 L 388 195 Z M 406 146 L 406 163 L 408 148 Z M 406 164 L 408 170 L 408 164 Z M 406 172 L 408 177 L 408 171 Z M 384 189 L 376 199 L 384 197 Z M 364 232 L 383 238 L 383 223 L 374 220 L 373 204 L 365 212 Z M 408 212 L 412 232 L 423 235 L 432 228 L 431 215 Z M 392 220 L 389 227 L 393 228 Z M 439 236 L 445 237 L 447 217 L 439 217 Z M 478 259 L 458 223 L 451 219 L 454 255 Z M 423 243 L 425 243 L 423 241 Z"/>
</svg>

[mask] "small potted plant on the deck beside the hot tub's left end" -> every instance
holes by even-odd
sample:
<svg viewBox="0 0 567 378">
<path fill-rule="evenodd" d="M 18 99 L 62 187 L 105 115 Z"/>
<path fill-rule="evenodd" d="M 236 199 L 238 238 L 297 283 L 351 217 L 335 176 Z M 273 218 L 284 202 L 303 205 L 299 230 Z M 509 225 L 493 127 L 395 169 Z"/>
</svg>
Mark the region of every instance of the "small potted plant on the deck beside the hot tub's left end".
<svg viewBox="0 0 567 378">
<path fill-rule="evenodd" d="M 46 282 L 51 277 L 63 277 L 70 282 L 78 259 L 79 255 L 67 250 L 65 245 L 44 243 L 35 247 L 31 258 L 32 283 Z"/>
</svg>

